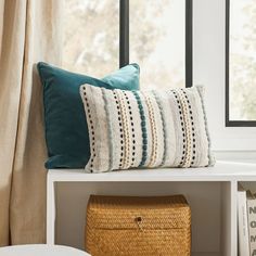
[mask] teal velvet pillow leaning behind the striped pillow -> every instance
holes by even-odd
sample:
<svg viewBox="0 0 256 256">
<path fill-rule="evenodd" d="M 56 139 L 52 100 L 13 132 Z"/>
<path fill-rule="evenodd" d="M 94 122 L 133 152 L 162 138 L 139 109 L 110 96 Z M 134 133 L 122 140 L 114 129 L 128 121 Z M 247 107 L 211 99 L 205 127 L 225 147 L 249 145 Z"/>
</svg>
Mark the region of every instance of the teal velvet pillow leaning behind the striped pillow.
<svg viewBox="0 0 256 256">
<path fill-rule="evenodd" d="M 102 79 L 71 73 L 42 62 L 37 67 L 43 85 L 49 155 L 46 168 L 84 168 L 90 158 L 90 143 L 79 87 L 89 84 L 106 89 L 138 90 L 139 65 L 127 65 Z"/>
</svg>

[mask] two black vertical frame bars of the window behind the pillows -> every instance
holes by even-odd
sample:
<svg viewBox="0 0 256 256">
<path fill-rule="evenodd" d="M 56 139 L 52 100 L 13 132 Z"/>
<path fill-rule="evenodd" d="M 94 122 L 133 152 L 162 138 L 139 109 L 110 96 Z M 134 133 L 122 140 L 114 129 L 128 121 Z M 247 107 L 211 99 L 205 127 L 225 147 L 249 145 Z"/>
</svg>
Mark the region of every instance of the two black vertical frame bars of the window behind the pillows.
<svg viewBox="0 0 256 256">
<path fill-rule="evenodd" d="M 193 0 L 185 0 L 185 87 L 193 85 Z M 119 67 L 129 64 L 129 0 L 119 0 Z"/>
</svg>

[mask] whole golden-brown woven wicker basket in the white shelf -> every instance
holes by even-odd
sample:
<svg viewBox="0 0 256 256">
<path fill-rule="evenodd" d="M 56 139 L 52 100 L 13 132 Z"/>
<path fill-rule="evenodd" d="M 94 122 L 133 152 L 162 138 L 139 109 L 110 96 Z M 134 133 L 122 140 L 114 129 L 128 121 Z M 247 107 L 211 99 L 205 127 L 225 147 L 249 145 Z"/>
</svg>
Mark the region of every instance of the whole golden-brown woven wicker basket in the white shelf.
<svg viewBox="0 0 256 256">
<path fill-rule="evenodd" d="M 91 195 L 86 249 L 92 256 L 190 255 L 190 207 L 182 195 Z"/>
</svg>

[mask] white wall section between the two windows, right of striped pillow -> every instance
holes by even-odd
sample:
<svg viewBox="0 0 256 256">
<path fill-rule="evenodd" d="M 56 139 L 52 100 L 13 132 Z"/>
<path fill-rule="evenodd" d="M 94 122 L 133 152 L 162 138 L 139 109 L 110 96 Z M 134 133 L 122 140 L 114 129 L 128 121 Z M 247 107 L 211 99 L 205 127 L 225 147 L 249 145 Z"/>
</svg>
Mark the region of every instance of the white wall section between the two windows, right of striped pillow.
<svg viewBox="0 0 256 256">
<path fill-rule="evenodd" d="M 193 82 L 206 86 L 213 149 L 256 151 L 256 128 L 225 127 L 225 0 L 193 0 Z"/>
</svg>

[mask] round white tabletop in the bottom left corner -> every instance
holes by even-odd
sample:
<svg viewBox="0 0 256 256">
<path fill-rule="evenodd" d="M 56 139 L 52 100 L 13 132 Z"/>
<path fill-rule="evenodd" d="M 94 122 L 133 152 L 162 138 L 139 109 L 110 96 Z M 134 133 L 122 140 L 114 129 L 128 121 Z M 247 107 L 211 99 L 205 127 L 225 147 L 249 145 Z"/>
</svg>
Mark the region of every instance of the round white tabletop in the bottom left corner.
<svg viewBox="0 0 256 256">
<path fill-rule="evenodd" d="M 0 256 L 89 256 L 89 254 L 63 245 L 27 244 L 0 247 Z"/>
</svg>

